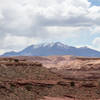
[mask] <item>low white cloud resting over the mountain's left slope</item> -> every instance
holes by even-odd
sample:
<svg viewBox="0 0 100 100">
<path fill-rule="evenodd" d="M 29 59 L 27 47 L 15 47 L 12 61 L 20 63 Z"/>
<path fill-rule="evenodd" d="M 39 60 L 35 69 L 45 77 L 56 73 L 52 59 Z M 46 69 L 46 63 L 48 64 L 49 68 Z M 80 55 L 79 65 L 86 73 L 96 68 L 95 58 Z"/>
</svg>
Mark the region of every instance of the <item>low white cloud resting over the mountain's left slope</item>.
<svg viewBox="0 0 100 100">
<path fill-rule="evenodd" d="M 37 44 L 39 43 L 38 41 L 40 41 L 38 38 L 34 39 L 24 36 L 11 36 L 9 34 L 3 40 L 4 41 L 2 41 L 1 45 L 2 52 L 6 48 L 8 48 L 8 50 L 15 50 L 15 51 L 22 50 L 25 48 L 26 45 L 31 45 L 32 43 Z"/>
</svg>

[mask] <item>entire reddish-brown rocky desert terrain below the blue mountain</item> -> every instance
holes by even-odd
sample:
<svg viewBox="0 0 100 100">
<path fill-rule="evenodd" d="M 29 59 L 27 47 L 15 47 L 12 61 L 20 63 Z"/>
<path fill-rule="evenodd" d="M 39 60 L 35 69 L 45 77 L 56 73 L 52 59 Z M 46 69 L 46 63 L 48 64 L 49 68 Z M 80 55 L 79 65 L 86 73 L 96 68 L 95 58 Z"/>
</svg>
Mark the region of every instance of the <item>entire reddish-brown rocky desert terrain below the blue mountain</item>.
<svg viewBox="0 0 100 100">
<path fill-rule="evenodd" d="M 0 100 L 99 100 L 100 58 L 0 58 Z"/>
</svg>

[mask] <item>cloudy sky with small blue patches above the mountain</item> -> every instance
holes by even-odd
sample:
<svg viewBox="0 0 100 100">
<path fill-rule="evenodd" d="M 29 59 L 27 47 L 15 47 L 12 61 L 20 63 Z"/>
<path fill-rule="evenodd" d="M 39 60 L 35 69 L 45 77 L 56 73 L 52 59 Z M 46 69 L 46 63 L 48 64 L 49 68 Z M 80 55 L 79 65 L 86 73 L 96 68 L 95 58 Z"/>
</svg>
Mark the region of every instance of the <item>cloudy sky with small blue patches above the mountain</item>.
<svg viewBox="0 0 100 100">
<path fill-rule="evenodd" d="M 100 51 L 100 0 L 0 0 L 0 54 L 58 41 Z"/>
</svg>

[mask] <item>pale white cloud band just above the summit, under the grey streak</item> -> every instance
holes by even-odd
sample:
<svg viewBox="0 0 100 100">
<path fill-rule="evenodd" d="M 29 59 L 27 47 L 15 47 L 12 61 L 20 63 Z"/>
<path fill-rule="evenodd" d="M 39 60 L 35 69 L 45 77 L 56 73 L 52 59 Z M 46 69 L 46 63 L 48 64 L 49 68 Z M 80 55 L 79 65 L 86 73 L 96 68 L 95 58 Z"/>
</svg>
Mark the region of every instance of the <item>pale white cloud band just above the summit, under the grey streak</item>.
<svg viewBox="0 0 100 100">
<path fill-rule="evenodd" d="M 49 32 L 49 37 L 56 40 L 65 40 L 68 38 L 78 38 L 79 37 L 79 27 L 73 28 L 73 27 L 47 27 L 47 30 Z M 53 30 L 53 32 L 52 32 Z M 74 34 L 73 34 L 74 32 Z"/>
</svg>

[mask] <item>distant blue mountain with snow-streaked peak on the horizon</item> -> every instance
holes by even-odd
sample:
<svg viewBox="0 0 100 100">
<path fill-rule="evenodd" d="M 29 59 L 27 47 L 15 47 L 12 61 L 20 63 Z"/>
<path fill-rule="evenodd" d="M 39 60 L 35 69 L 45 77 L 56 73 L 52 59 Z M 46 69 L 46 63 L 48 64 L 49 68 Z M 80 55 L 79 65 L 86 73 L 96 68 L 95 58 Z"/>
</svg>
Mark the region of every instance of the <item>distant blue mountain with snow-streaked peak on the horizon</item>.
<svg viewBox="0 0 100 100">
<path fill-rule="evenodd" d="M 85 57 L 100 57 L 100 52 L 88 47 L 76 48 L 60 42 L 31 45 L 20 52 L 7 52 L 2 56 L 52 56 L 73 55 Z"/>
</svg>

